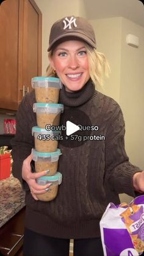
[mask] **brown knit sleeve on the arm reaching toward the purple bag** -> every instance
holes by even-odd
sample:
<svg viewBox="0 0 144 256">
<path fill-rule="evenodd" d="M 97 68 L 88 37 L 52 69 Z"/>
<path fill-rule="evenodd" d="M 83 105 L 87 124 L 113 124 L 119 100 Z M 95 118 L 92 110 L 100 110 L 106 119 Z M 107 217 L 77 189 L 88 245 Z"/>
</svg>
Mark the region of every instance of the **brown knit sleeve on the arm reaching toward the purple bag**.
<svg viewBox="0 0 144 256">
<path fill-rule="evenodd" d="M 106 134 L 106 176 L 105 182 L 117 194 L 126 193 L 135 197 L 132 177 L 141 172 L 139 167 L 132 165 L 124 148 L 125 125 L 120 106 L 113 101 L 112 118 Z"/>
</svg>

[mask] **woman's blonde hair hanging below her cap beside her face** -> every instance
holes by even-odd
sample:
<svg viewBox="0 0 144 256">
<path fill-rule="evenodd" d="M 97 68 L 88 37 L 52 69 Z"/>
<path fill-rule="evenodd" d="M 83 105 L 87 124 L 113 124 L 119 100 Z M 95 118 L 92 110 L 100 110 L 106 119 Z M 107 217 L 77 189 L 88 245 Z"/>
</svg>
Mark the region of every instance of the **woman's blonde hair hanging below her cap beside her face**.
<svg viewBox="0 0 144 256">
<path fill-rule="evenodd" d="M 95 48 L 92 48 L 92 46 L 88 45 L 87 43 L 84 44 L 87 50 L 90 78 L 92 79 L 96 88 L 98 86 L 102 87 L 103 75 L 108 77 L 110 73 L 110 67 L 107 58 L 103 53 L 99 53 Z M 52 54 L 53 50 L 49 51 L 49 58 L 52 57 Z M 57 77 L 57 74 L 54 74 L 54 70 L 51 67 L 51 64 L 49 64 L 48 68 L 46 68 L 46 75 Z"/>
</svg>

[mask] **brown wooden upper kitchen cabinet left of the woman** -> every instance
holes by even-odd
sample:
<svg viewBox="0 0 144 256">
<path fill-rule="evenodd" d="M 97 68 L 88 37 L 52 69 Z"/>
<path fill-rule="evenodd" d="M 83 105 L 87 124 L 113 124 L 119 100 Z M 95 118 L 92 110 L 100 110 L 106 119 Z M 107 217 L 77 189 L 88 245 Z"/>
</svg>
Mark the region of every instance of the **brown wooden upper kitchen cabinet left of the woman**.
<svg viewBox="0 0 144 256">
<path fill-rule="evenodd" d="M 5 0 L 0 7 L 0 108 L 16 111 L 41 76 L 42 15 L 34 0 Z"/>
</svg>

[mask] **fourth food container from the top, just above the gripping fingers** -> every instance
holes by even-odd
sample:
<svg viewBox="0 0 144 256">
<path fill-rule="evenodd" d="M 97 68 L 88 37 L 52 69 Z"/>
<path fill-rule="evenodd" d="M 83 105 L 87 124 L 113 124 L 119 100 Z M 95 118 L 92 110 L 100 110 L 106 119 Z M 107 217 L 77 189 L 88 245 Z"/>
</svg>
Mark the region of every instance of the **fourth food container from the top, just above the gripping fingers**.
<svg viewBox="0 0 144 256">
<path fill-rule="evenodd" d="M 48 175 L 46 176 L 56 174 L 60 155 L 62 155 L 62 153 L 59 148 L 57 148 L 56 152 L 51 153 L 41 153 L 32 148 L 32 159 L 35 161 L 35 172 L 49 170 Z"/>
</svg>

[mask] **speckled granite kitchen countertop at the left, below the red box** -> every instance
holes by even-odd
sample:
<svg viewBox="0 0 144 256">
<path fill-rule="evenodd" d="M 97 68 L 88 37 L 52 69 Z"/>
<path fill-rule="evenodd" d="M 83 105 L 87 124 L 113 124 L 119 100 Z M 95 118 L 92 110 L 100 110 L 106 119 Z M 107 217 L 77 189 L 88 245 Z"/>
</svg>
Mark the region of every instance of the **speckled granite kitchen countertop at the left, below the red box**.
<svg viewBox="0 0 144 256">
<path fill-rule="evenodd" d="M 0 227 L 25 206 L 24 194 L 20 181 L 12 174 L 0 180 Z"/>
</svg>

